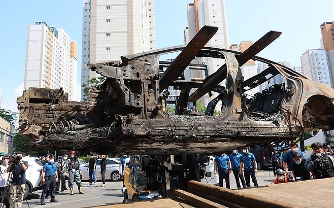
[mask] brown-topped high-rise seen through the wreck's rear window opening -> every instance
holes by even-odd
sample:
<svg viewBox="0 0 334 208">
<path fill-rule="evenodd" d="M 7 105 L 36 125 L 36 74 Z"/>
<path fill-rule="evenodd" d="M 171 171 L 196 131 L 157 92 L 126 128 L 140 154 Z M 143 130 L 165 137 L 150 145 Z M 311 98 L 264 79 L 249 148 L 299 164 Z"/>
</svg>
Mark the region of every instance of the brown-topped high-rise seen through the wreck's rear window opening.
<svg viewBox="0 0 334 208">
<path fill-rule="evenodd" d="M 251 45 L 253 45 L 252 41 L 242 41 L 240 42 L 239 46 L 237 44 L 232 44 L 229 49 L 241 51 L 244 52 L 247 48 L 249 48 Z M 255 65 L 255 61 L 253 59 L 250 59 L 247 61 L 244 65 L 240 67 L 242 76 L 244 77 L 244 80 L 248 80 L 251 77 L 254 77 L 254 75 L 257 74 L 257 68 Z M 255 93 L 260 91 L 260 87 L 254 87 L 253 89 L 250 89 L 246 92 L 247 95 L 253 96 Z"/>
</svg>

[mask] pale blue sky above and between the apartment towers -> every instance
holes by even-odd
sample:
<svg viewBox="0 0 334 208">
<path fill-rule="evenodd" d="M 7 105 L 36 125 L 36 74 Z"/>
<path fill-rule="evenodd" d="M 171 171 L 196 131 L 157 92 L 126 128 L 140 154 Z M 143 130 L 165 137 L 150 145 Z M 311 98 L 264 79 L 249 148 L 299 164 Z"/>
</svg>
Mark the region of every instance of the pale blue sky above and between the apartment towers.
<svg viewBox="0 0 334 208">
<path fill-rule="evenodd" d="M 138 1 L 138 0 L 136 0 Z M 208 0 L 210 1 L 210 0 Z M 193 0 L 155 0 L 156 48 L 184 44 L 187 3 Z M 63 28 L 78 43 L 77 99 L 80 99 L 82 1 L 4 1 L 0 13 L 0 90 L 3 108 L 18 111 L 23 92 L 27 29 L 45 21 Z M 226 0 L 228 45 L 255 42 L 270 30 L 281 36 L 258 55 L 300 65 L 300 56 L 320 47 L 320 24 L 333 21 L 332 0 Z"/>
</svg>

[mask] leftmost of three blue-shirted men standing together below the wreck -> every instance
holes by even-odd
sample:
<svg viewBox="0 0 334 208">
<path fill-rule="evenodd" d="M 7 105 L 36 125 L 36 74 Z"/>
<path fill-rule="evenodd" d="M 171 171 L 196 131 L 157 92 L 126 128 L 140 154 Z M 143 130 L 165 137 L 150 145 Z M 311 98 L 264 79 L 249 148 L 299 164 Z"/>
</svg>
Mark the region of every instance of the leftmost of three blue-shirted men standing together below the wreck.
<svg viewBox="0 0 334 208">
<path fill-rule="evenodd" d="M 223 153 L 215 157 L 214 163 L 214 174 L 217 174 L 218 167 L 218 176 L 219 176 L 219 186 L 223 187 L 223 180 L 225 179 L 226 188 L 229 189 L 229 174 L 231 173 L 231 162 L 229 157 Z"/>
</svg>

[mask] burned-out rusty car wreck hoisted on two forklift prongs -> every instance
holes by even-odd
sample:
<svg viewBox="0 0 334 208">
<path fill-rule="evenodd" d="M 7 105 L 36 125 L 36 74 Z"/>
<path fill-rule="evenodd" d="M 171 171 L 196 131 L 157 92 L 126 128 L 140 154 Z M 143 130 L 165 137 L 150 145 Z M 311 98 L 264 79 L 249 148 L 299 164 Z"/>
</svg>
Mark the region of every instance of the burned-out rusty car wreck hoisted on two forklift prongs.
<svg viewBox="0 0 334 208">
<path fill-rule="evenodd" d="M 106 78 L 91 91 L 89 101 L 69 101 L 61 89 L 24 90 L 17 101 L 20 131 L 31 138 L 34 148 L 205 154 L 333 129 L 332 88 L 256 56 L 280 32 L 270 31 L 246 51 L 237 52 L 205 47 L 217 29 L 204 26 L 186 46 L 122 56 L 121 62 L 88 64 Z M 178 51 L 174 61 L 159 61 L 160 55 Z M 185 69 L 201 57 L 223 59 L 225 64 L 201 81 L 185 80 Z M 269 67 L 245 80 L 240 67 L 250 59 Z M 282 76 L 284 82 L 247 96 L 247 91 L 275 76 Z M 171 88 L 180 92 L 175 114 L 165 110 Z M 211 92 L 218 96 L 208 103 L 205 114 L 189 108 L 189 103 L 196 106 L 197 100 Z M 213 116 L 219 101 L 220 113 Z"/>
</svg>

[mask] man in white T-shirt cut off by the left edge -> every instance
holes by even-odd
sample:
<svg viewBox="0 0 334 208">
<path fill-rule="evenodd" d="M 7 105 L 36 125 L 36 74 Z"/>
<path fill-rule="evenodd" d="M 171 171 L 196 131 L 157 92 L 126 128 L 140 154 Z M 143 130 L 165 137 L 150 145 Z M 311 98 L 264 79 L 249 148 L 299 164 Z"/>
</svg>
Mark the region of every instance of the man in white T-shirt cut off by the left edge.
<svg viewBox="0 0 334 208">
<path fill-rule="evenodd" d="M 4 156 L 2 159 L 2 164 L 0 165 L 0 195 L 4 197 L 4 199 L 1 199 L 3 203 L 5 203 L 6 208 L 9 207 L 9 201 L 7 198 L 7 180 L 9 177 L 9 173 L 7 172 L 7 167 L 8 167 L 8 161 L 9 157 Z"/>
</svg>

